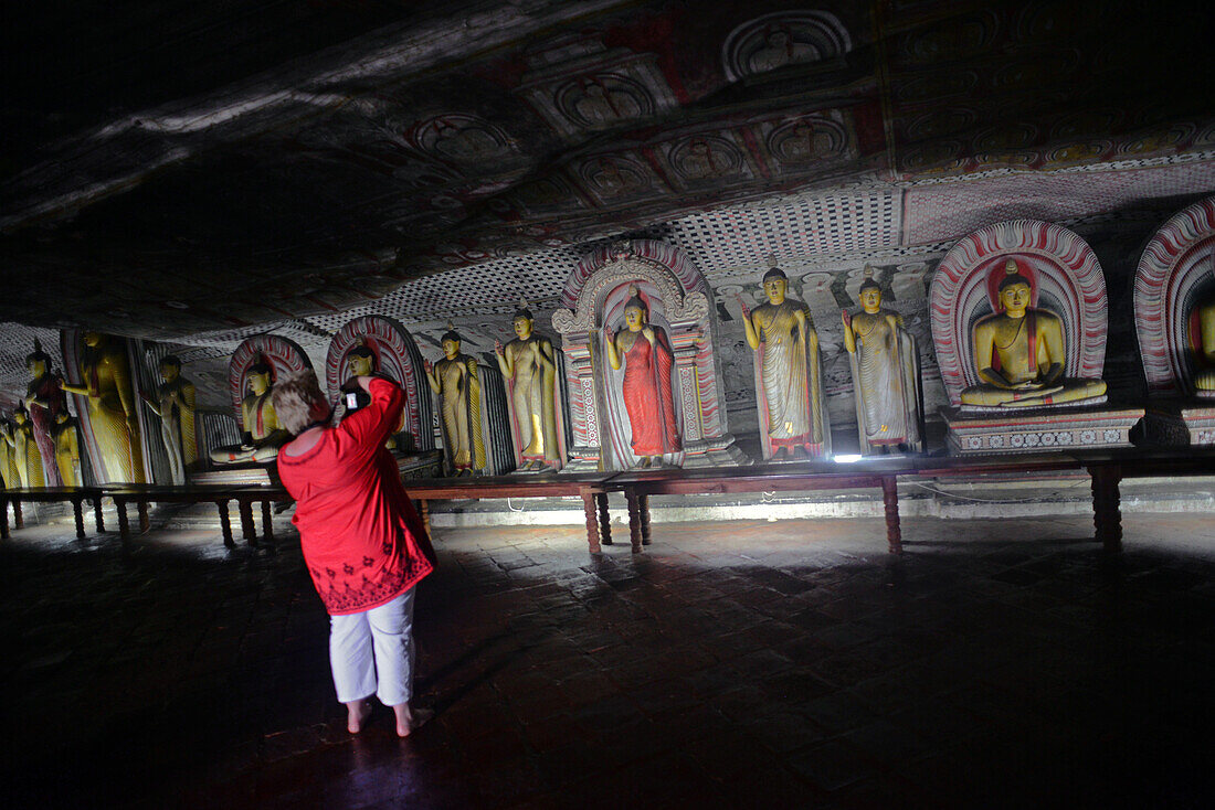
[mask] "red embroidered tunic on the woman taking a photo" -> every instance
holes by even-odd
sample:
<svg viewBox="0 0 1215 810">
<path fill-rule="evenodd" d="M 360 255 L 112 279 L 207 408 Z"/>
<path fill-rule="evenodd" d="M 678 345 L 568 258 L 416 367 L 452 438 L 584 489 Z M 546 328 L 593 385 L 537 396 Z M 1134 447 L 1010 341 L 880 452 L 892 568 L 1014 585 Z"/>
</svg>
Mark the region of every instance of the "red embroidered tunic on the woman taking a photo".
<svg viewBox="0 0 1215 810">
<path fill-rule="evenodd" d="M 405 391 L 380 379 L 368 387 L 371 404 L 327 429 L 313 447 L 278 454 L 278 475 L 296 502 L 292 522 L 304 561 L 332 616 L 391 601 L 434 571 L 430 539 L 384 448 Z"/>
</svg>

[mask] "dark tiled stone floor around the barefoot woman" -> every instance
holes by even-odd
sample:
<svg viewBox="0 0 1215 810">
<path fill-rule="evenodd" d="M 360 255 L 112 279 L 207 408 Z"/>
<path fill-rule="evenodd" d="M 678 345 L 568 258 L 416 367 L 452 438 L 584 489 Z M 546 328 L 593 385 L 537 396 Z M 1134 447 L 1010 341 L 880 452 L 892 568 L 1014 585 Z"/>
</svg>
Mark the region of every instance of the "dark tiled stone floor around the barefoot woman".
<svg viewBox="0 0 1215 810">
<path fill-rule="evenodd" d="M 298 540 L 0 543 L 5 808 L 1210 806 L 1215 522 L 447 529 L 413 738 L 358 737 Z"/>
</svg>

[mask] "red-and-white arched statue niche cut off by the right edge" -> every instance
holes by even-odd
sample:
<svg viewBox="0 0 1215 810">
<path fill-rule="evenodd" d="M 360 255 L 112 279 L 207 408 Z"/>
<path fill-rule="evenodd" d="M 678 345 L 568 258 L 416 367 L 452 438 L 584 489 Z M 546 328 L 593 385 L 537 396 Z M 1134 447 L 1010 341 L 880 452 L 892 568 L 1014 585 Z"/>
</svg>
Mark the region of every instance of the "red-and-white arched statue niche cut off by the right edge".
<svg viewBox="0 0 1215 810">
<path fill-rule="evenodd" d="M 1135 272 L 1152 443 L 1215 444 L 1215 197 L 1170 217 Z"/>
</svg>

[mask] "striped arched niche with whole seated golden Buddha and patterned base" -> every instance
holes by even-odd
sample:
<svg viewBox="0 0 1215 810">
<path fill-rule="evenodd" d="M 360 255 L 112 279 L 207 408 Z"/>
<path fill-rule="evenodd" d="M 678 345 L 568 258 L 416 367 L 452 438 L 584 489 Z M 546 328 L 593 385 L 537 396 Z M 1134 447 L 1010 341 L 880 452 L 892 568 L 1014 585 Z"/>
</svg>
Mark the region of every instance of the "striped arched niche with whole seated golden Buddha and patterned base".
<svg viewBox="0 0 1215 810">
<path fill-rule="evenodd" d="M 1106 284 L 1092 249 L 1017 220 L 960 240 L 932 281 L 932 336 L 959 453 L 1129 443 L 1141 409 L 1100 407 Z"/>
</svg>

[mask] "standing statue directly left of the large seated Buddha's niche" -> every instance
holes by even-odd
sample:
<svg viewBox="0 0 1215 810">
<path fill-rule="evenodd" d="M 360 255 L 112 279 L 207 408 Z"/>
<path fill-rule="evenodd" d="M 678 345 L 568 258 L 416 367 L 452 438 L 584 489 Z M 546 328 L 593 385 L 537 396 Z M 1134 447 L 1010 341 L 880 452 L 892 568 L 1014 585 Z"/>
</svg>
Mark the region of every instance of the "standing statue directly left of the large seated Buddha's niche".
<svg viewBox="0 0 1215 810">
<path fill-rule="evenodd" d="M 903 328 L 903 316 L 882 307 L 882 288 L 865 267 L 860 285 L 861 311 L 842 311 L 843 345 L 852 363 L 860 448 L 922 451 L 923 398 L 920 355 L 915 338 Z"/>
</svg>

